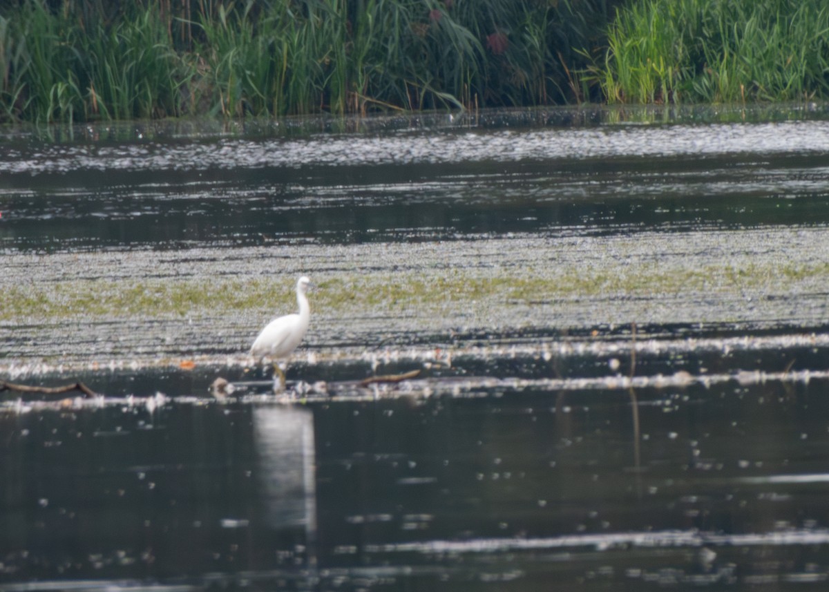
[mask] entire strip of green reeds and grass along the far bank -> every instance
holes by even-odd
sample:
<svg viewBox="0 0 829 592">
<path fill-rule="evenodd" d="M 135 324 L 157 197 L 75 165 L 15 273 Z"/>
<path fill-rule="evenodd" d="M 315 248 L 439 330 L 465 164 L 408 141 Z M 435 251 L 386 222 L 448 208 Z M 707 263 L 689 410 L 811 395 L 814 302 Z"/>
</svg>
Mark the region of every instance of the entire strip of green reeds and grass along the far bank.
<svg viewBox="0 0 829 592">
<path fill-rule="evenodd" d="M 819 0 L 0 0 L 0 123 L 827 95 Z"/>
</svg>

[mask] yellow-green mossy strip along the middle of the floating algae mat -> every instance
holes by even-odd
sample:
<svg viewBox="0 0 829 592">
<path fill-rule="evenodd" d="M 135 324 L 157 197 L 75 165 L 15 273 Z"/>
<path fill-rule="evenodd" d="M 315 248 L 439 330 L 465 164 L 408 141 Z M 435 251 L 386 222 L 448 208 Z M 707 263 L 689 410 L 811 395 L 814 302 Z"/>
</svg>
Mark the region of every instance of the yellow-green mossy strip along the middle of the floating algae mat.
<svg viewBox="0 0 829 592">
<path fill-rule="evenodd" d="M 662 294 L 774 292 L 787 284 L 826 284 L 829 264 L 708 264 L 662 269 L 635 264 L 618 269 L 469 268 L 450 272 L 338 274 L 309 295 L 317 313 L 445 311 L 569 298 L 657 298 Z M 3 289 L 0 321 L 43 323 L 65 318 L 211 317 L 229 313 L 288 313 L 293 289 L 279 279 L 138 279 L 56 282 Z"/>
</svg>

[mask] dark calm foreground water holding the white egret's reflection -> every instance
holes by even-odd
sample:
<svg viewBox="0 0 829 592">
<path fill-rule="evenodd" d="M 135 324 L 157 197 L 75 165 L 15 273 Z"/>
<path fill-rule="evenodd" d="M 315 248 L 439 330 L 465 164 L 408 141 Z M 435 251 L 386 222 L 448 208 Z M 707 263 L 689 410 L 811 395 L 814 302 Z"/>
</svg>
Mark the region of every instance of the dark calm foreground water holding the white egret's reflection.
<svg viewBox="0 0 829 592">
<path fill-rule="evenodd" d="M 6 414 L 3 589 L 819 584 L 826 388 Z"/>
</svg>

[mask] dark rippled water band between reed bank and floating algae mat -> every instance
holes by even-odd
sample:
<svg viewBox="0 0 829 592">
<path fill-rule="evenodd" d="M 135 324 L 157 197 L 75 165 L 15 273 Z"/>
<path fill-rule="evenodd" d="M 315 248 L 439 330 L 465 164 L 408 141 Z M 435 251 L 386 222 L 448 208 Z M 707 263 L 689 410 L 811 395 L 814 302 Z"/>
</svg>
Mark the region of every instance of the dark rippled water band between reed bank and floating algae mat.
<svg viewBox="0 0 829 592">
<path fill-rule="evenodd" d="M 821 119 L 289 132 L 155 124 L 67 143 L 13 136 L 0 156 L 0 246 L 628 233 L 814 224 L 827 209 Z"/>
</svg>

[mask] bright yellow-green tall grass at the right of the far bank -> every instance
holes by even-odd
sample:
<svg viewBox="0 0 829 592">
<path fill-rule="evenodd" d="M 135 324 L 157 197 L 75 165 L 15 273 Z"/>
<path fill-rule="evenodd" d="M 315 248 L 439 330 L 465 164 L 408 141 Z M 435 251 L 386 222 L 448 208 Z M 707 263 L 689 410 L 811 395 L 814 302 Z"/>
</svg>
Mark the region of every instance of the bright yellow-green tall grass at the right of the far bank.
<svg viewBox="0 0 829 592">
<path fill-rule="evenodd" d="M 822 0 L 637 0 L 618 12 L 599 69 L 616 102 L 829 95 Z"/>
</svg>

